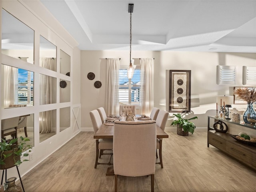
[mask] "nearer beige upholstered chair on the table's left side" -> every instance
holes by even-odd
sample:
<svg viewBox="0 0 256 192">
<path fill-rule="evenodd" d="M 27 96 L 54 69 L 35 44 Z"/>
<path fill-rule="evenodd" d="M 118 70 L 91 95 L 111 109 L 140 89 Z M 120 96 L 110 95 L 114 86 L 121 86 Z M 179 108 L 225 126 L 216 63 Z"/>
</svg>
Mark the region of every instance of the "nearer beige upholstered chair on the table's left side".
<svg viewBox="0 0 256 192">
<path fill-rule="evenodd" d="M 100 128 L 100 126 L 102 126 L 102 120 L 100 118 L 100 114 L 99 114 L 98 110 L 92 110 L 90 112 L 90 118 L 92 120 L 92 126 L 94 129 L 94 133 L 96 133 L 98 131 L 98 129 Z M 97 168 L 97 165 L 99 165 L 99 164 L 110 165 L 110 160 L 113 155 L 112 153 L 109 154 L 111 156 L 110 156 L 110 160 L 108 163 L 99 163 L 98 162 L 99 150 L 101 150 L 100 156 L 102 154 L 104 154 L 103 150 L 113 150 L 113 140 L 112 139 L 96 139 L 96 160 L 95 160 L 94 168 Z"/>
</svg>

